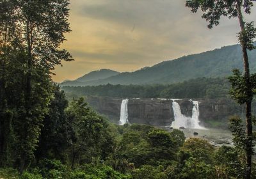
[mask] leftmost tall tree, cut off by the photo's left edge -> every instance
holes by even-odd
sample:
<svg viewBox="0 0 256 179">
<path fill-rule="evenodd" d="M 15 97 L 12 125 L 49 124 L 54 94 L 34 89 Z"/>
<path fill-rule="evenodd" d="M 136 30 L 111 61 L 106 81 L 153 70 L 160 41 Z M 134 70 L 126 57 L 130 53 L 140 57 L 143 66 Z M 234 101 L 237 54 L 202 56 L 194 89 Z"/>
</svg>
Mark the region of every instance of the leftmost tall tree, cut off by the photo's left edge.
<svg viewBox="0 0 256 179">
<path fill-rule="evenodd" d="M 13 111 L 8 103 L 10 84 L 13 84 L 13 71 L 16 69 L 17 13 L 13 1 L 0 1 L 0 166 L 10 163 L 10 141 Z"/>
</svg>

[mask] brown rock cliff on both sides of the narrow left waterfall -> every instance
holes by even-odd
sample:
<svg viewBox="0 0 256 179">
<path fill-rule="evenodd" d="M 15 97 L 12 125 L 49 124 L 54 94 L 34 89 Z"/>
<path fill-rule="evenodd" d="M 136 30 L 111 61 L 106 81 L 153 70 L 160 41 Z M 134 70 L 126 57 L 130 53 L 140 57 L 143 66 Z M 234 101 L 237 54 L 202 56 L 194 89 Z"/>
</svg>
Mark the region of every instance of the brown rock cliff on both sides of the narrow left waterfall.
<svg viewBox="0 0 256 179">
<path fill-rule="evenodd" d="M 112 122 L 118 123 L 120 120 L 122 98 L 87 97 L 86 102 Z M 130 123 L 170 126 L 174 121 L 172 100 L 131 98 L 128 102 L 128 120 Z"/>
</svg>

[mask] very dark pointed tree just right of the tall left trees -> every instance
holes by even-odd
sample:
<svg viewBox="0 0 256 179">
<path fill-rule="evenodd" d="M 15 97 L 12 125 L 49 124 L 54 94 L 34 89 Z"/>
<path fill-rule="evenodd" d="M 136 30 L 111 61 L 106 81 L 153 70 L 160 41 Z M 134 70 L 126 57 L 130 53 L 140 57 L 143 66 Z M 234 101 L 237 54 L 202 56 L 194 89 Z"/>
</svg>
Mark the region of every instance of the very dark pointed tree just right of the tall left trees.
<svg viewBox="0 0 256 179">
<path fill-rule="evenodd" d="M 70 123 L 68 123 L 65 114 L 68 100 L 60 87 L 54 88 L 54 98 L 49 105 L 48 114 L 44 116 L 38 148 L 35 153 L 37 163 L 43 158 L 63 160 L 63 152 L 68 147 L 71 132 Z"/>
</svg>

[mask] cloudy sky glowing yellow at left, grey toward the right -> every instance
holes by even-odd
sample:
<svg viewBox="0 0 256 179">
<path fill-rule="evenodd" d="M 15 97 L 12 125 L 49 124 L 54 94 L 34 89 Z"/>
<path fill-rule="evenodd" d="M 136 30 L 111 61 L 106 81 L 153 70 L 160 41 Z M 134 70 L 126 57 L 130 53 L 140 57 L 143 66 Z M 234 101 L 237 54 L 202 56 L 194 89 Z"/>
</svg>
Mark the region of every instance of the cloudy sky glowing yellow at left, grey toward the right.
<svg viewBox="0 0 256 179">
<path fill-rule="evenodd" d="M 75 59 L 57 66 L 54 81 L 109 68 L 132 72 L 144 66 L 237 43 L 237 19 L 207 29 L 202 13 L 186 0 L 70 0 L 70 27 L 62 45 Z M 255 20 L 253 12 L 246 20 Z"/>
</svg>

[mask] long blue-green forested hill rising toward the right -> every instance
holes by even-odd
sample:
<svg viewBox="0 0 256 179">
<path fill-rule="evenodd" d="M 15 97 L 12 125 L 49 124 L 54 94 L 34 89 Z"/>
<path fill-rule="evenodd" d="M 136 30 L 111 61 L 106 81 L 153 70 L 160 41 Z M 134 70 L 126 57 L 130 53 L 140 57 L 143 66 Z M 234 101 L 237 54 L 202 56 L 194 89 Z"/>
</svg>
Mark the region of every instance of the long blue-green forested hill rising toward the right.
<svg viewBox="0 0 256 179">
<path fill-rule="evenodd" d="M 256 51 L 249 52 L 252 72 L 256 72 Z M 233 68 L 243 68 L 241 47 L 231 45 L 200 54 L 184 56 L 164 61 L 152 67 L 141 68 L 135 72 L 95 81 L 80 82 L 79 85 L 61 84 L 61 86 L 95 86 L 99 84 L 171 84 L 197 77 L 225 77 Z"/>
</svg>

